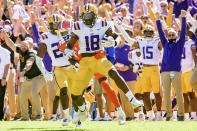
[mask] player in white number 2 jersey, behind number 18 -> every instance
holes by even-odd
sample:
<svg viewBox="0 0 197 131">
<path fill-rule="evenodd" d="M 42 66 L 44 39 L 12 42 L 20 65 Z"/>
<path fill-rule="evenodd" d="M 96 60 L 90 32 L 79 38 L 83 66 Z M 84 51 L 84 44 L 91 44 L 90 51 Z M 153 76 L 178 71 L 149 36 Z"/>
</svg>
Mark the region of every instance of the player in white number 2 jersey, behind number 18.
<svg viewBox="0 0 197 131">
<path fill-rule="evenodd" d="M 62 125 L 68 125 L 69 123 L 69 97 L 68 90 L 71 87 L 72 78 L 75 75 L 75 69 L 68 61 L 68 58 L 59 50 L 58 44 L 62 41 L 62 37 L 59 35 L 59 24 L 63 21 L 62 17 L 57 14 L 53 14 L 48 19 L 49 32 L 44 33 L 40 37 L 40 48 L 38 49 L 38 56 L 43 58 L 47 51 L 52 60 L 52 66 L 54 67 L 54 77 L 58 84 L 60 91 L 60 101 L 62 104 L 65 118 Z M 54 101 L 56 101 L 57 97 Z M 53 117 L 54 114 L 53 114 Z"/>
</svg>

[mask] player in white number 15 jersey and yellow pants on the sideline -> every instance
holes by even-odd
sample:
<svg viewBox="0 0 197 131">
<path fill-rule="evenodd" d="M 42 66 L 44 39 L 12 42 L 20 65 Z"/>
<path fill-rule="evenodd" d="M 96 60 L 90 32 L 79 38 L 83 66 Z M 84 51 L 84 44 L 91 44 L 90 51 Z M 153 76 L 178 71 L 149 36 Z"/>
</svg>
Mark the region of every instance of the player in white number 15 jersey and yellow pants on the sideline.
<svg viewBox="0 0 197 131">
<path fill-rule="evenodd" d="M 125 40 L 141 52 L 142 55 L 142 90 L 143 90 L 143 101 L 145 109 L 147 111 L 147 117 L 149 121 L 155 119 L 155 114 L 152 110 L 150 92 L 154 92 L 157 106 L 156 120 L 161 120 L 161 103 L 162 98 L 160 96 L 160 75 L 159 75 L 159 55 L 162 50 L 162 44 L 159 40 L 154 38 L 154 30 L 150 25 L 147 25 L 143 32 L 144 38 L 141 40 L 134 40 L 128 36 L 125 30 L 121 26 L 121 22 L 115 21 L 116 27 L 121 31 Z M 151 90 L 152 88 L 152 90 Z"/>
</svg>

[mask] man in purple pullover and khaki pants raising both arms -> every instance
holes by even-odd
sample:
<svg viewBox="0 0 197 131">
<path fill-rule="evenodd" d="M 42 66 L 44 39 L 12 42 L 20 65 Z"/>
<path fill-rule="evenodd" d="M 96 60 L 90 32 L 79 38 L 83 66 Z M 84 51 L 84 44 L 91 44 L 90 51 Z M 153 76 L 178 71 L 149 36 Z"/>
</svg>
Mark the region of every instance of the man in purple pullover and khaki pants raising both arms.
<svg viewBox="0 0 197 131">
<path fill-rule="evenodd" d="M 181 89 L 181 55 L 183 53 L 183 47 L 185 44 L 186 36 L 186 11 L 181 11 L 182 28 L 180 38 L 175 30 L 171 29 L 167 32 L 167 38 L 162 30 L 161 22 L 159 20 L 160 14 L 156 13 L 157 29 L 159 37 L 164 48 L 163 59 L 161 64 L 161 81 L 164 88 L 164 98 L 166 104 L 167 118 L 169 121 L 172 117 L 172 105 L 171 105 L 171 83 L 175 88 L 179 121 L 184 120 L 184 107 L 183 107 L 183 95 Z M 176 52 L 176 53 L 175 53 Z"/>
</svg>

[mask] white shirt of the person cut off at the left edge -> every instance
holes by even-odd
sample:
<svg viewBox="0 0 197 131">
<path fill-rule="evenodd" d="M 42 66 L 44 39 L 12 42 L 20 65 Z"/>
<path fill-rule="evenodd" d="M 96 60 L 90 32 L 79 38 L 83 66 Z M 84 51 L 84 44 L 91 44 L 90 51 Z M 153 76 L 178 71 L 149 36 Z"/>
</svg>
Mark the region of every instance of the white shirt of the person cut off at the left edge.
<svg viewBox="0 0 197 131">
<path fill-rule="evenodd" d="M 0 79 L 3 78 L 4 69 L 7 64 L 10 64 L 10 52 L 0 46 Z"/>
</svg>

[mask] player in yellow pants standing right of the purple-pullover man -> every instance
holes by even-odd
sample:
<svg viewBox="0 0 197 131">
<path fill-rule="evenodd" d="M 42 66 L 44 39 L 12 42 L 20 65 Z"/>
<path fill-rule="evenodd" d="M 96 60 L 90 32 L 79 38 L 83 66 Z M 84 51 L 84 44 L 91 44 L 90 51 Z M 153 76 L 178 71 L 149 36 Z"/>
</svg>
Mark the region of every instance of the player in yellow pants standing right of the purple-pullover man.
<svg viewBox="0 0 197 131">
<path fill-rule="evenodd" d="M 187 26 L 188 27 L 188 26 Z M 196 46 L 194 41 L 187 37 L 182 54 L 181 61 L 181 86 L 184 98 L 185 120 L 189 119 L 189 105 L 191 104 L 191 119 L 196 120 L 196 96 L 192 90 L 190 84 L 190 78 L 194 69 L 194 63 L 196 63 Z"/>
</svg>

